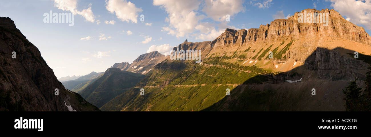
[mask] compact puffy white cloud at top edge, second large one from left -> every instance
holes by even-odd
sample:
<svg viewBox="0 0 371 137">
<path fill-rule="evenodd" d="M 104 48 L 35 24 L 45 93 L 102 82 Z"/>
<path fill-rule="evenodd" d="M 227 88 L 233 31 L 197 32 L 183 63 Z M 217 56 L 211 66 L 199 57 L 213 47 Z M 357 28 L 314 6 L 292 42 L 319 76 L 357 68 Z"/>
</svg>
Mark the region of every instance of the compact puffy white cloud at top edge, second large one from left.
<svg viewBox="0 0 371 137">
<path fill-rule="evenodd" d="M 132 23 L 138 22 L 138 13 L 143 11 L 127 0 L 106 0 L 106 9 L 112 14 L 115 13 L 121 21 L 131 21 Z"/>
</svg>

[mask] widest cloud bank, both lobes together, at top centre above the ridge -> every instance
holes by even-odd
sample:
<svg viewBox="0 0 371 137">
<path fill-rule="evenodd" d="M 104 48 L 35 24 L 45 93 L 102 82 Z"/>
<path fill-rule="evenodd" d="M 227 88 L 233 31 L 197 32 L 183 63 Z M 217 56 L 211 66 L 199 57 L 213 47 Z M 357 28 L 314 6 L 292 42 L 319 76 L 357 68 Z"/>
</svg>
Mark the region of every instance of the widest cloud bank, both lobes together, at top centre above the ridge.
<svg viewBox="0 0 371 137">
<path fill-rule="evenodd" d="M 226 28 L 238 30 L 225 23 L 226 15 L 234 16 L 243 11 L 243 0 L 205 0 L 201 11 L 207 16 L 198 13 L 200 0 L 154 0 L 153 5 L 160 6 L 168 13 L 165 21 L 169 24 L 162 27 L 161 31 L 177 38 L 190 36 L 200 40 L 214 40 Z M 223 22 L 218 25 L 201 22 L 205 18 Z"/>
</svg>

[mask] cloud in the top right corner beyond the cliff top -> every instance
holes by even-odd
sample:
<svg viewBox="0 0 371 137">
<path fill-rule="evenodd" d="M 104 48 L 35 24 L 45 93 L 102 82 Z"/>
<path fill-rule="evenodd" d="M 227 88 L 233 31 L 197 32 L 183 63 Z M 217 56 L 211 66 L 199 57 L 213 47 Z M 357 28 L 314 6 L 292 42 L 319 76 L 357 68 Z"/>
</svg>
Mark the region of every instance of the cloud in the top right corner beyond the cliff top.
<svg viewBox="0 0 371 137">
<path fill-rule="evenodd" d="M 371 0 L 327 0 L 347 20 L 371 30 Z"/>
</svg>

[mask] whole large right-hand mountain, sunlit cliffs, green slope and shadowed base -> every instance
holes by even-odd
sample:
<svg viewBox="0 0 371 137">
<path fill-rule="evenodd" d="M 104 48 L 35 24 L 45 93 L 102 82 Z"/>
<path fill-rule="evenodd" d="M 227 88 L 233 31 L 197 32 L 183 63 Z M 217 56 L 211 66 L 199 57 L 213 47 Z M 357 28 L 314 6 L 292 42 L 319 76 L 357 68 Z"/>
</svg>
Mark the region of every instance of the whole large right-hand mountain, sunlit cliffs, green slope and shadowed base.
<svg viewBox="0 0 371 137">
<path fill-rule="evenodd" d="M 298 14 L 305 11 L 328 13 L 328 26 L 299 23 Z M 370 35 L 335 10 L 306 9 L 260 28 L 226 29 L 214 41 L 200 43 L 200 64 L 167 58 L 100 109 L 345 111 L 342 90 L 356 78 L 364 81 L 370 71 Z M 200 43 L 184 42 L 178 48 L 194 49 L 191 45 Z"/>
</svg>

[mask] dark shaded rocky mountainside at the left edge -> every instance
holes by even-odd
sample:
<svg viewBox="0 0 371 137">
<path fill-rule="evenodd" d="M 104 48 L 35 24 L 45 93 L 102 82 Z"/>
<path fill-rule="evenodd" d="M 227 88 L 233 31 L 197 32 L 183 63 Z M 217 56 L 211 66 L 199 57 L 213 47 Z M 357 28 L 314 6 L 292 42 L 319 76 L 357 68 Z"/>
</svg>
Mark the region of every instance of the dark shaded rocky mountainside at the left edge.
<svg viewBox="0 0 371 137">
<path fill-rule="evenodd" d="M 0 64 L 0 111 L 100 111 L 65 89 L 40 51 L 6 17 L 0 17 Z"/>
</svg>

